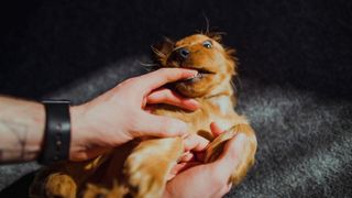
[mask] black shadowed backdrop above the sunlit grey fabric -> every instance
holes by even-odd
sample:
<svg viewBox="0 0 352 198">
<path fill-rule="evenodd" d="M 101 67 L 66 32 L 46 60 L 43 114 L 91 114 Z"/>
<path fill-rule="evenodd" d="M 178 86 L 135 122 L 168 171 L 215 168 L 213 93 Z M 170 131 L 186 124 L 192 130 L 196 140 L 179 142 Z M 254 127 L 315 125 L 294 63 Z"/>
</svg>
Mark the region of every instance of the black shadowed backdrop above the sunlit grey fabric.
<svg viewBox="0 0 352 198">
<path fill-rule="evenodd" d="M 40 98 L 163 35 L 227 32 L 241 75 L 331 97 L 352 91 L 352 2 L 2 1 L 0 91 Z"/>
</svg>

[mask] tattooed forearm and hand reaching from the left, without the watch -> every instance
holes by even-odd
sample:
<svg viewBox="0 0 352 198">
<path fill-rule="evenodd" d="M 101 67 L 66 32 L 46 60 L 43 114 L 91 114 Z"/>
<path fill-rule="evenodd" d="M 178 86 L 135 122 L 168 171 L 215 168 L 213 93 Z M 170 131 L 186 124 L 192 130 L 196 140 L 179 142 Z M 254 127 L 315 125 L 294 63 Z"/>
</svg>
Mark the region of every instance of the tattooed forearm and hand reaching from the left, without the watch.
<svg viewBox="0 0 352 198">
<path fill-rule="evenodd" d="M 190 111 L 198 109 L 196 100 L 158 89 L 196 74 L 189 69 L 158 69 L 125 80 L 90 102 L 70 107 L 70 144 L 65 144 L 69 146 L 69 160 L 92 158 L 134 138 L 185 134 L 185 122 L 151 114 L 146 105 L 168 103 Z M 0 164 L 36 160 L 43 144 L 44 127 L 43 105 L 0 96 Z"/>
</svg>

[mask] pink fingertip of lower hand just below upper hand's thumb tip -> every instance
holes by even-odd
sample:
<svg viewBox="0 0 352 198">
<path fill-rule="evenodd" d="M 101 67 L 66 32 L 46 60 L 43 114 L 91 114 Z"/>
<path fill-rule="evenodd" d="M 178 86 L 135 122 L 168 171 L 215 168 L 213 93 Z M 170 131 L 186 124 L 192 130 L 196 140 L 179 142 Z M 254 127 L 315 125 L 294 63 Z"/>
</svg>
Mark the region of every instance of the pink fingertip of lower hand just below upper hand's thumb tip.
<svg viewBox="0 0 352 198">
<path fill-rule="evenodd" d="M 184 139 L 185 151 L 201 152 L 207 148 L 209 141 L 197 134 L 189 134 Z"/>
</svg>

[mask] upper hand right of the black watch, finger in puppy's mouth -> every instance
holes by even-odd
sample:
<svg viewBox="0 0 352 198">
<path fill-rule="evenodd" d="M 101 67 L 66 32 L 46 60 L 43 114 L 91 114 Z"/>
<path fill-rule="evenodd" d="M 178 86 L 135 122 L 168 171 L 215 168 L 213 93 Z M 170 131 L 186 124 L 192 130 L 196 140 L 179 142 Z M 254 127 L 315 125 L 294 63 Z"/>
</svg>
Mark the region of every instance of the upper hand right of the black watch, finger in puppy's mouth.
<svg viewBox="0 0 352 198">
<path fill-rule="evenodd" d="M 186 79 L 196 70 L 162 68 L 130 78 L 90 102 L 73 107 L 70 160 L 82 161 L 139 136 L 177 136 L 187 133 L 180 120 L 151 114 L 148 103 L 168 103 L 188 110 L 199 105 L 163 85 Z"/>
</svg>

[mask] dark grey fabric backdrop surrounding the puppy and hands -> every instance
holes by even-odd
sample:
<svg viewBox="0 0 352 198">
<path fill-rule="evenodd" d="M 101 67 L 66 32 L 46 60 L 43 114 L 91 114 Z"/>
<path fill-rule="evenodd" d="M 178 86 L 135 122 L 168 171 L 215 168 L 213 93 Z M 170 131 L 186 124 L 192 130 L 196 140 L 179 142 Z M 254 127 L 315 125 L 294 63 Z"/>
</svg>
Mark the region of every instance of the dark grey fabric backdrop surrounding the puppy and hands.
<svg viewBox="0 0 352 198">
<path fill-rule="evenodd" d="M 351 197 L 351 1 L 1 3 L 0 92 L 75 103 L 145 73 L 151 44 L 205 31 L 207 16 L 238 50 L 238 111 L 258 138 L 254 168 L 228 196 Z M 0 189 L 36 168 L 0 167 Z"/>
</svg>

